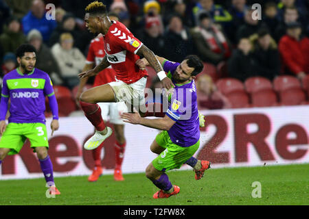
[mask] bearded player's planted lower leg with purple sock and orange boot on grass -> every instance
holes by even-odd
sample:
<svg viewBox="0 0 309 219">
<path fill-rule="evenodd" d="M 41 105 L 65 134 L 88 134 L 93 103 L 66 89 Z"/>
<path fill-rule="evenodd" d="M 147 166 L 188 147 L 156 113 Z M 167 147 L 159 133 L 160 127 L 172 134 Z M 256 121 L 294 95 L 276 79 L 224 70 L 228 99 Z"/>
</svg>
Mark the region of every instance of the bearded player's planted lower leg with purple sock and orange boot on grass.
<svg viewBox="0 0 309 219">
<path fill-rule="evenodd" d="M 168 175 L 163 171 L 157 170 L 152 163 L 146 168 L 146 177 L 160 189 L 152 196 L 153 198 L 169 198 L 180 192 L 179 186 L 172 185 Z"/>
</svg>

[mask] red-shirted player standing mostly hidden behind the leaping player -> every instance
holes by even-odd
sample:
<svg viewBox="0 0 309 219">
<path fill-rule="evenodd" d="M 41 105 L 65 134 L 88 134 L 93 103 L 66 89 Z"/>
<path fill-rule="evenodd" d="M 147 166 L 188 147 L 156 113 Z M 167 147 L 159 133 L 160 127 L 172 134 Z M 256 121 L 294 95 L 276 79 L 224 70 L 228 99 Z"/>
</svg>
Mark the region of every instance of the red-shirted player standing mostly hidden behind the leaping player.
<svg viewBox="0 0 309 219">
<path fill-rule="evenodd" d="M 112 21 L 118 21 L 117 14 L 109 14 L 109 18 Z M 99 34 L 98 37 L 91 40 L 89 47 L 89 52 L 87 55 L 86 65 L 84 66 L 83 71 L 90 70 L 94 65 L 100 64 L 105 56 L 104 51 L 104 39 L 102 34 Z M 87 83 L 89 77 L 84 77 L 80 80 L 80 85 L 78 86 L 78 93 L 76 94 L 76 99 L 79 99 L 82 90 Z M 111 66 L 102 70 L 98 75 L 95 76 L 95 81 L 93 87 L 101 86 L 103 84 L 116 81 L 116 73 Z M 124 137 L 124 122 L 120 118 L 120 114 L 123 112 L 128 112 L 128 108 L 124 102 L 119 103 L 98 103 L 102 109 L 102 118 L 107 119 L 109 116 L 110 122 L 113 124 L 115 129 L 115 171 L 114 179 L 115 181 L 123 181 L 124 177 L 122 176 L 122 161 L 124 159 L 124 151 L 126 148 L 126 138 Z M 93 159 L 95 161 L 95 167 L 93 168 L 92 174 L 89 176 L 88 181 L 93 182 L 97 181 L 102 175 L 102 163 L 101 163 L 101 151 L 104 142 L 98 146 L 97 149 L 93 150 Z"/>
</svg>

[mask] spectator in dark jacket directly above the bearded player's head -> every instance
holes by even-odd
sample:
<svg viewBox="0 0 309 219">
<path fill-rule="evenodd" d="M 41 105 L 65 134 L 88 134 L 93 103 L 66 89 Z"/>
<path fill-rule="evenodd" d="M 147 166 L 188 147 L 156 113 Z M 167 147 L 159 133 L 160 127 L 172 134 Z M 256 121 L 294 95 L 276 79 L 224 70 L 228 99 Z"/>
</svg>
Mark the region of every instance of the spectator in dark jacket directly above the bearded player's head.
<svg viewBox="0 0 309 219">
<path fill-rule="evenodd" d="M 194 42 L 190 31 L 183 26 L 181 17 L 174 14 L 170 17 L 168 31 L 164 36 L 165 57 L 181 62 L 187 54 L 192 54 Z"/>
</svg>

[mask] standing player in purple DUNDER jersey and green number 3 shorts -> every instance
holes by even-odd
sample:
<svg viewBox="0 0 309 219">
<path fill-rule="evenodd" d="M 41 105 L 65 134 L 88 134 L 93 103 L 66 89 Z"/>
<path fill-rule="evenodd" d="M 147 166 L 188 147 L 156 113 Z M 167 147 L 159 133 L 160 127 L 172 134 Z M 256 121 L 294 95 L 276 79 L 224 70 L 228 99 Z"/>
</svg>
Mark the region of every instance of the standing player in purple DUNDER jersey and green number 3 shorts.
<svg viewBox="0 0 309 219">
<path fill-rule="evenodd" d="M 54 183 L 52 162 L 47 154 L 48 139 L 45 126 L 45 96 L 48 96 L 52 110 L 52 134 L 58 130 L 58 103 L 52 81 L 47 73 L 34 68 L 36 49 L 30 44 L 22 44 L 16 50 L 19 67 L 3 77 L 0 103 L 0 165 L 6 155 L 14 155 L 28 138 L 38 156 L 49 194 L 60 194 Z M 10 99 L 8 125 L 5 115 Z"/>
</svg>

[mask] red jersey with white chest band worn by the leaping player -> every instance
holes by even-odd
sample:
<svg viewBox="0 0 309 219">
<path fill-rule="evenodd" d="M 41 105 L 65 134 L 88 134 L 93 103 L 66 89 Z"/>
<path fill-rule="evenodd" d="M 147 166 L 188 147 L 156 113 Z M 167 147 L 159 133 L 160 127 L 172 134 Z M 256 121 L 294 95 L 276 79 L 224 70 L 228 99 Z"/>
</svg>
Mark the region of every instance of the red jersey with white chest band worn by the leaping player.
<svg viewBox="0 0 309 219">
<path fill-rule="evenodd" d="M 113 25 L 109 27 L 104 36 L 104 49 L 108 62 L 116 72 L 117 79 L 125 83 L 134 83 L 148 76 L 146 70 L 141 70 L 135 64 L 139 60 L 139 55 L 136 53 L 141 48 L 141 41 L 135 38 L 119 21 L 112 22 Z"/>
</svg>

